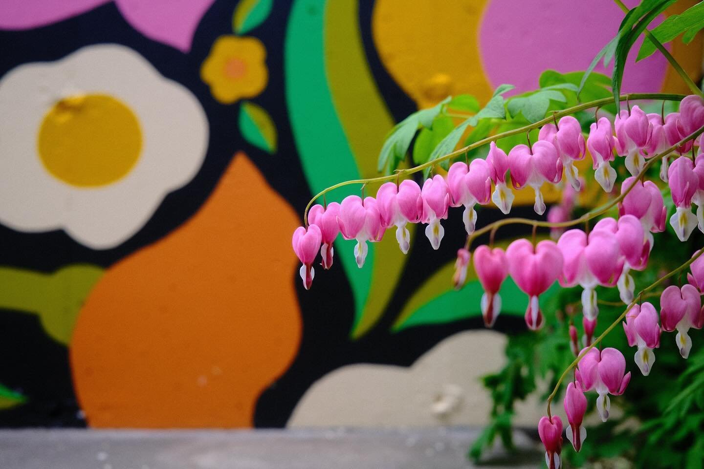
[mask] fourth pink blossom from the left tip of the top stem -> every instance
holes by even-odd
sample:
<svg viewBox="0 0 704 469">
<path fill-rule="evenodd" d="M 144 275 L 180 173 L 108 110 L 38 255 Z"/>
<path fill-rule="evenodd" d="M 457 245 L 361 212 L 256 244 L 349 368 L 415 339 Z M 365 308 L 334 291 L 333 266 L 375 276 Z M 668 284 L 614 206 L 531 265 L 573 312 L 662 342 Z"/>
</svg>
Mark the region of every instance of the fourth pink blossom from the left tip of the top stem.
<svg viewBox="0 0 704 469">
<path fill-rule="evenodd" d="M 410 248 L 410 233 L 407 223 L 417 223 L 423 212 L 423 200 L 420 186 L 413 179 L 401 181 L 396 186 L 393 182 L 382 184 L 377 191 L 377 207 L 384 229 L 396 226 L 396 240 L 403 254 Z"/>
</svg>

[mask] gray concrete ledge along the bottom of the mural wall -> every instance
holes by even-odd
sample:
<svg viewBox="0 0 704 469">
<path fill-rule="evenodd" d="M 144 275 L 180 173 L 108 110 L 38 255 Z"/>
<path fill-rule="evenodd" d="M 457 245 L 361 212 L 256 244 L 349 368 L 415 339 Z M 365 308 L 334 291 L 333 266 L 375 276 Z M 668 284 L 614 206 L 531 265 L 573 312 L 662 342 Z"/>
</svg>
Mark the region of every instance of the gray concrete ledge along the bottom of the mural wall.
<svg viewBox="0 0 704 469">
<path fill-rule="evenodd" d="M 478 430 L 257 431 L 0 430 L 1 469 L 458 469 Z M 517 433 L 516 455 L 491 468 L 537 468 L 543 456 Z"/>
</svg>

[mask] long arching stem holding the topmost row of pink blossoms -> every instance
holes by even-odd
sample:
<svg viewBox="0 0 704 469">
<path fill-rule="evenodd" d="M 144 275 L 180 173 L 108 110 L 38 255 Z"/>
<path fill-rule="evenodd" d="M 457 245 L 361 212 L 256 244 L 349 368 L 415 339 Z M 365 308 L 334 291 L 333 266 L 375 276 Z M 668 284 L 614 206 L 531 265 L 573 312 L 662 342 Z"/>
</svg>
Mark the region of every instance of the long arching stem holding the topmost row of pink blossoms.
<svg viewBox="0 0 704 469">
<path fill-rule="evenodd" d="M 664 99 L 666 101 L 681 101 L 684 98 L 684 95 L 665 94 L 665 93 L 631 93 L 631 94 L 622 94 L 621 96 L 619 96 L 620 101 L 625 101 L 627 98 L 629 98 L 629 99 Z M 367 178 L 367 179 L 351 179 L 350 181 L 340 182 L 338 184 L 335 184 L 334 186 L 330 186 L 328 188 L 323 189 L 322 191 L 317 193 L 312 199 L 310 199 L 310 202 L 308 202 L 308 205 L 306 205 L 306 210 L 303 212 L 303 224 L 308 226 L 308 210 L 310 210 L 310 207 L 315 203 L 315 200 L 318 200 L 318 198 L 322 197 L 323 194 L 328 193 L 329 191 L 333 191 L 334 189 L 337 189 L 337 188 L 340 188 L 343 186 L 348 186 L 350 184 L 375 184 L 377 182 L 394 181 L 396 179 L 396 177 L 398 177 L 398 176 L 407 176 L 408 174 L 413 174 L 415 172 L 422 171 L 423 169 L 425 169 L 427 167 L 437 165 L 439 162 L 443 162 L 445 160 L 449 160 L 450 158 L 454 158 L 455 156 L 462 155 L 463 153 L 466 153 L 467 151 L 473 150 L 474 148 L 479 148 L 480 146 L 486 145 L 487 143 L 491 143 L 492 141 L 497 141 L 498 139 L 503 139 L 505 137 L 509 137 L 509 136 L 516 135 L 516 134 L 523 134 L 524 132 L 529 131 L 531 129 L 536 129 L 538 127 L 541 127 L 543 124 L 550 123 L 553 120 L 553 117 L 562 117 L 565 115 L 570 115 L 572 113 L 577 113 L 577 111 L 580 111 L 580 110 L 601 107 L 603 105 L 608 105 L 612 102 L 613 102 L 613 98 L 602 98 L 602 99 L 597 99 L 596 101 L 589 101 L 589 103 L 581 103 L 576 106 L 572 106 L 572 108 L 567 108 L 565 110 L 561 110 L 558 113 L 553 113 L 553 114 L 551 114 L 550 117 L 546 117 L 545 119 L 539 120 L 538 122 L 534 122 L 533 124 L 528 124 L 524 127 L 519 127 L 517 129 L 512 129 L 509 131 L 502 132 L 501 134 L 496 134 L 494 136 L 486 137 L 486 139 L 482 139 L 477 142 L 474 142 L 471 145 L 467 145 L 463 148 L 460 148 L 459 150 L 455 150 L 452 153 L 448 153 L 447 155 L 444 155 L 439 158 L 435 158 L 434 160 L 430 160 L 428 162 L 425 162 L 422 165 L 418 165 L 418 166 L 408 168 L 408 169 L 400 169 L 400 170 L 398 170 L 397 174 L 389 174 L 388 176 L 379 176 L 379 177 L 372 177 L 372 178 Z"/>
</svg>

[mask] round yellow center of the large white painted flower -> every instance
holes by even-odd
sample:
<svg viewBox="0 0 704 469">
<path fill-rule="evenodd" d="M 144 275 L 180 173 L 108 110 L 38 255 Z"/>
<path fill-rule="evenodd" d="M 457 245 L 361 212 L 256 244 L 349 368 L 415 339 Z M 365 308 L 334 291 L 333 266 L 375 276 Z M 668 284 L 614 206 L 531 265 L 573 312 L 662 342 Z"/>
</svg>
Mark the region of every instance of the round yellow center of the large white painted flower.
<svg viewBox="0 0 704 469">
<path fill-rule="evenodd" d="M 134 167 L 142 130 L 132 110 L 112 96 L 69 96 L 44 115 L 37 150 L 57 179 L 78 187 L 104 186 Z"/>
</svg>

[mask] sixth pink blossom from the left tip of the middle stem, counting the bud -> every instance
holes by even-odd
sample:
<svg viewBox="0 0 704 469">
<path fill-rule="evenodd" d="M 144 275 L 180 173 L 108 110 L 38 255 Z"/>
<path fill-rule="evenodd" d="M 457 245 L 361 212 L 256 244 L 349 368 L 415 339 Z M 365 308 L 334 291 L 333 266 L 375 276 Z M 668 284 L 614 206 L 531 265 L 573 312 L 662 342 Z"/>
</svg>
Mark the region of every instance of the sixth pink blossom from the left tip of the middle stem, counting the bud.
<svg viewBox="0 0 704 469">
<path fill-rule="evenodd" d="M 621 184 L 621 193 L 626 192 L 635 180 L 635 176 L 625 179 Z M 636 181 L 636 185 L 619 204 L 619 214 L 621 217 L 627 214 L 633 215 L 641 221 L 643 234 L 650 250 L 653 250 L 655 240 L 651 233 L 665 231 L 667 221 L 665 201 L 662 200 L 662 193 L 658 186 L 655 186 L 653 181 Z"/>
</svg>

